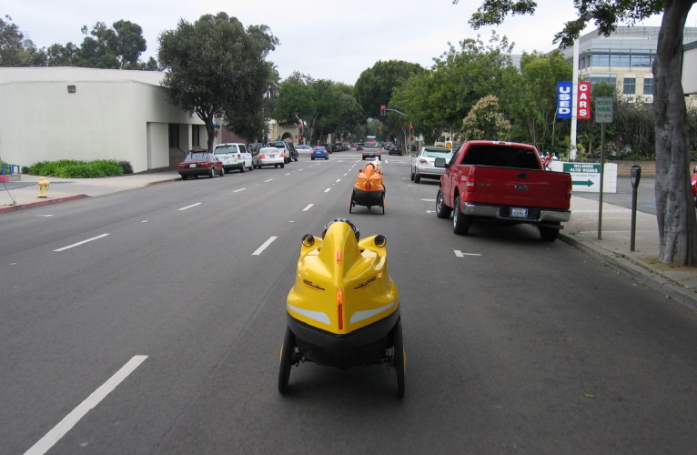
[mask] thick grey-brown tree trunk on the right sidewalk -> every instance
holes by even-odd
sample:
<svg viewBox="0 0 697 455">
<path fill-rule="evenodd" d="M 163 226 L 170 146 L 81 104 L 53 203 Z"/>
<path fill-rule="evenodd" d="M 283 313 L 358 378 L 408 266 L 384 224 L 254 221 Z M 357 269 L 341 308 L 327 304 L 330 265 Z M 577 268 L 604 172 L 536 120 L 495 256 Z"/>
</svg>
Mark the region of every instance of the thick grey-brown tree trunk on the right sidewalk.
<svg viewBox="0 0 697 455">
<path fill-rule="evenodd" d="M 653 76 L 656 218 L 664 264 L 697 265 L 697 217 L 690 187 L 687 109 L 682 93 L 682 29 L 694 0 L 665 0 Z"/>
</svg>

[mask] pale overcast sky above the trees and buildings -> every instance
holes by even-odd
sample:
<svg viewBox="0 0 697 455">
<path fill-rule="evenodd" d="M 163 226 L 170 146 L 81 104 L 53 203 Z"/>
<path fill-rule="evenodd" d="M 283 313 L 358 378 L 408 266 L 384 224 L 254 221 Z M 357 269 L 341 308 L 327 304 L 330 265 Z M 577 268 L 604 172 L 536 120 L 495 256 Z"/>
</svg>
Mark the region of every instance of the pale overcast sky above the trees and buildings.
<svg viewBox="0 0 697 455">
<path fill-rule="evenodd" d="M 447 51 L 448 43 L 478 34 L 486 41 L 491 27 L 468 25 L 481 0 L 4 0 L 0 14 L 12 17 L 38 47 L 79 45 L 83 25 L 112 25 L 124 19 L 140 25 L 147 42 L 143 61 L 157 57 L 157 36 L 177 28 L 179 19 L 195 21 L 225 11 L 243 25 L 268 25 L 280 45 L 268 59 L 281 78 L 293 71 L 355 84 L 360 73 L 379 60 L 406 60 L 421 66 Z M 514 54 L 554 49 L 552 40 L 575 18 L 573 0 L 538 0 L 533 16 L 509 16 L 497 32 L 515 43 Z M 660 25 L 656 16 L 643 25 Z M 697 26 L 693 8 L 687 26 Z M 591 30 L 589 28 L 588 30 Z M 143 58 L 145 57 L 145 58 Z"/>
</svg>

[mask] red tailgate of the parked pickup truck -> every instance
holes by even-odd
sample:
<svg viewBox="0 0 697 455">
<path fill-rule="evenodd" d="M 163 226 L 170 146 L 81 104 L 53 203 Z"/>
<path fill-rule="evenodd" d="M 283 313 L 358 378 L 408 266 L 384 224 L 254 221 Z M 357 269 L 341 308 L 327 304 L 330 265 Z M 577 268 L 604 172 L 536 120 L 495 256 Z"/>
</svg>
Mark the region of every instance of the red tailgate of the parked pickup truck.
<svg viewBox="0 0 697 455">
<path fill-rule="evenodd" d="M 562 210 L 570 207 L 568 173 L 511 167 L 474 168 L 474 186 L 465 194 L 466 203 Z"/>
</svg>

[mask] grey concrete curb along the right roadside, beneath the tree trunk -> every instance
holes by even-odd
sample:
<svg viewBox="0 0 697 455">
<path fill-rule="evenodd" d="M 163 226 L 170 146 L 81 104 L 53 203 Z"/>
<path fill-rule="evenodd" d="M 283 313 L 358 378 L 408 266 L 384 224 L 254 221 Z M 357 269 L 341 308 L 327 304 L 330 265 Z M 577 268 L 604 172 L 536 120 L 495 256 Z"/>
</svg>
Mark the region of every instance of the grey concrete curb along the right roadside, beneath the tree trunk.
<svg viewBox="0 0 697 455">
<path fill-rule="evenodd" d="M 637 279 L 641 284 L 661 292 L 666 298 L 672 298 L 682 306 L 697 311 L 697 292 L 662 276 L 642 262 L 593 244 L 583 243 L 567 235 L 560 234 L 559 239 L 582 253 L 597 259 L 599 262 L 607 264 L 611 268 L 616 268 L 631 278 Z"/>
</svg>

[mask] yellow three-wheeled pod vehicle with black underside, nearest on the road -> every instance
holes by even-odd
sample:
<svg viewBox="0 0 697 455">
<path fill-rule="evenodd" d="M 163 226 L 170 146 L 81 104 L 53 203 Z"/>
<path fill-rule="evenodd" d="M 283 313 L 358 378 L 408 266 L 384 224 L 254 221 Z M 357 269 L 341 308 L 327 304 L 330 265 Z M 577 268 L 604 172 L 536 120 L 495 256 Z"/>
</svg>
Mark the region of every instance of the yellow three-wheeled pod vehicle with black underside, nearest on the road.
<svg viewBox="0 0 697 455">
<path fill-rule="evenodd" d="M 384 236 L 361 240 L 357 227 L 338 218 L 322 238 L 303 237 L 286 312 L 278 391 L 288 391 L 291 367 L 311 361 L 339 369 L 387 365 L 397 396 L 404 396 L 399 292 L 389 277 Z"/>
</svg>

